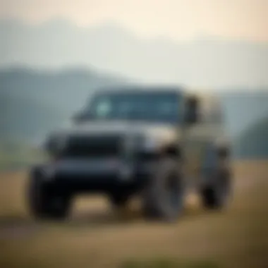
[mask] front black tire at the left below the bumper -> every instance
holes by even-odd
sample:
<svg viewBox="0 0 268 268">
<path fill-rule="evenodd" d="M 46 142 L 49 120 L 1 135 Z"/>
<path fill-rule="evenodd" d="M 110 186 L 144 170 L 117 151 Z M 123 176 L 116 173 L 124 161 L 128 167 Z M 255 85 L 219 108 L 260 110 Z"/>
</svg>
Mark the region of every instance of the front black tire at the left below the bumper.
<svg viewBox="0 0 268 268">
<path fill-rule="evenodd" d="M 35 219 L 65 219 L 70 209 L 69 195 L 57 194 L 44 183 L 42 173 L 32 173 L 28 185 L 28 206 Z"/>
</svg>

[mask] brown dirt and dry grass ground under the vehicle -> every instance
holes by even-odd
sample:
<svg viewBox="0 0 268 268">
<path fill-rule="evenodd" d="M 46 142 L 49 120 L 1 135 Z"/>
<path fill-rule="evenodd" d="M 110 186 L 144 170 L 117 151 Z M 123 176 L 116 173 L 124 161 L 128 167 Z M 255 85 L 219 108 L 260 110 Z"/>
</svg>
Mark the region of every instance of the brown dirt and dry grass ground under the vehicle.
<svg viewBox="0 0 268 268">
<path fill-rule="evenodd" d="M 37 223 L 25 207 L 26 173 L 0 174 L 0 267 L 120 267 L 128 259 L 213 260 L 268 267 L 268 162 L 233 164 L 228 209 L 207 212 L 188 197 L 176 224 L 152 224 L 135 208 L 116 215 L 102 197 L 79 197 L 64 223 Z"/>
</svg>

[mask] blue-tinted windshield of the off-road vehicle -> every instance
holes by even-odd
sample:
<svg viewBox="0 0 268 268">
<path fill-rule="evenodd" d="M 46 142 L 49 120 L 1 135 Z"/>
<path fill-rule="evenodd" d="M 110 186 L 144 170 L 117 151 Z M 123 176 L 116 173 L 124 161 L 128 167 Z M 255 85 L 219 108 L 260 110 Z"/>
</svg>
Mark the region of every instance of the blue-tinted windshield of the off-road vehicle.
<svg viewBox="0 0 268 268">
<path fill-rule="evenodd" d="M 97 94 L 86 113 L 95 120 L 178 121 L 176 92 L 113 92 Z"/>
</svg>

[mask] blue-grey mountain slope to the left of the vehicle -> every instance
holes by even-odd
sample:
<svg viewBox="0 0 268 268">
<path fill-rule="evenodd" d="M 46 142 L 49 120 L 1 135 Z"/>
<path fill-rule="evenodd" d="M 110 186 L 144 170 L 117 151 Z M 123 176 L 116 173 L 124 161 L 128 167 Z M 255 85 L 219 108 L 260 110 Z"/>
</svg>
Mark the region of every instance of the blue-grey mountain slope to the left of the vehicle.
<svg viewBox="0 0 268 268">
<path fill-rule="evenodd" d="M 93 90 L 127 83 L 121 78 L 72 68 L 57 73 L 15 68 L 0 71 L 0 137 L 40 142 L 67 121 Z"/>
</svg>

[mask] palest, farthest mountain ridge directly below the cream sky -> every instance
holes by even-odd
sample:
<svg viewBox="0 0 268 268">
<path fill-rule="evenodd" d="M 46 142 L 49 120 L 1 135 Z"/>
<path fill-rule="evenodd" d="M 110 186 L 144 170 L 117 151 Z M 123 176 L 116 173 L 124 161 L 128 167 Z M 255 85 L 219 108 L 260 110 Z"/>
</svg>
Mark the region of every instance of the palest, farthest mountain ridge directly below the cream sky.
<svg viewBox="0 0 268 268">
<path fill-rule="evenodd" d="M 0 67 L 85 66 L 153 83 L 254 90 L 268 87 L 268 44 L 200 37 L 142 39 L 120 25 L 78 28 L 68 20 L 0 21 Z"/>
</svg>

